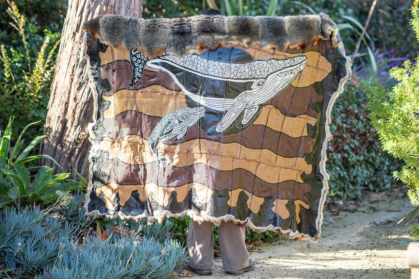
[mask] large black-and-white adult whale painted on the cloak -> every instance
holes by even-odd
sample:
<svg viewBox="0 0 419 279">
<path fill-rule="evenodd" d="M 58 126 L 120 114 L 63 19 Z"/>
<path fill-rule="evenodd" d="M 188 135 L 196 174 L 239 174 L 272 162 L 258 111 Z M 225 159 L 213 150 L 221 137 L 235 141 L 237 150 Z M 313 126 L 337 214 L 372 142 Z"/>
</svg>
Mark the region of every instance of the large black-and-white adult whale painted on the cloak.
<svg viewBox="0 0 419 279">
<path fill-rule="evenodd" d="M 131 57 L 138 52 L 131 51 Z M 131 59 L 132 60 L 132 59 Z M 181 57 L 163 55 L 152 60 L 139 59 L 142 65 L 133 65 L 133 81 L 139 80 L 143 66 L 161 70 L 171 76 L 182 92 L 195 103 L 215 111 L 225 112 L 216 125 L 217 132 L 227 131 L 242 115 L 241 123 L 247 125 L 259 111 L 259 106 L 284 90 L 304 69 L 306 56 L 298 55 L 288 59 L 252 60 L 250 62 L 225 62 L 208 59 L 198 54 Z M 235 98 L 206 97 L 189 91 L 168 66 L 202 76 L 228 82 L 253 82 L 250 90 L 240 92 Z M 130 84 L 130 86 L 131 86 Z M 136 84 L 136 83 L 135 83 Z M 134 85 L 135 85 L 134 84 Z M 134 86 L 133 85 L 133 86 Z"/>
</svg>

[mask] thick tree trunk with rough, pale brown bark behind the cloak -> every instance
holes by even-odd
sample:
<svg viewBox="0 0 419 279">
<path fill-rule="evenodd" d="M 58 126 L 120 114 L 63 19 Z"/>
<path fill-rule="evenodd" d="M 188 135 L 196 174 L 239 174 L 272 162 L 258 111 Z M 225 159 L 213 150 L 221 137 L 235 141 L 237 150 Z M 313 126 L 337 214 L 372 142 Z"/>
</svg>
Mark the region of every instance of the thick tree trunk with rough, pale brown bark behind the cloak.
<svg viewBox="0 0 419 279">
<path fill-rule="evenodd" d="M 70 0 L 56 61 L 51 97 L 40 153 L 52 156 L 57 172 L 72 172 L 72 178 L 88 171 L 90 142 L 87 124 L 93 121 L 93 85 L 89 82 L 84 57 L 83 24 L 98 15 L 116 14 L 141 17 L 143 0 Z"/>
</svg>

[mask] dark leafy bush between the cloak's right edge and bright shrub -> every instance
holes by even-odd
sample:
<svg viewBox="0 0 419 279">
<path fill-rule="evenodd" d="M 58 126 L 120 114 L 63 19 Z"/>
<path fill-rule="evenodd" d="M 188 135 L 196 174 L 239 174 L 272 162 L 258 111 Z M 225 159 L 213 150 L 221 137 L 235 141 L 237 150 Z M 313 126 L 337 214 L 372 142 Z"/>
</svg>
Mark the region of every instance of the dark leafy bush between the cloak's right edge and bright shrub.
<svg viewBox="0 0 419 279">
<path fill-rule="evenodd" d="M 326 164 L 332 199 L 360 199 L 362 191 L 383 191 L 400 165 L 383 152 L 375 129 L 367 118 L 367 97 L 354 84 L 333 105 L 332 141 Z"/>
</svg>

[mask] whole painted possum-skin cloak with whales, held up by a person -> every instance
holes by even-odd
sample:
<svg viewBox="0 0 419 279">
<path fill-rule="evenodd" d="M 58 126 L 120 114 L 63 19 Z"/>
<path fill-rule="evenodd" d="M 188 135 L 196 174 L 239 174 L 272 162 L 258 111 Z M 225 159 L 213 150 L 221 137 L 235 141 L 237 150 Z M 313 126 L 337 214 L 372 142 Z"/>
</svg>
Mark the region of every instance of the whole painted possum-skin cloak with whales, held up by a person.
<svg viewBox="0 0 419 279">
<path fill-rule="evenodd" d="M 84 28 L 88 214 L 318 240 L 330 112 L 351 66 L 327 15 L 102 16 Z"/>
</svg>

